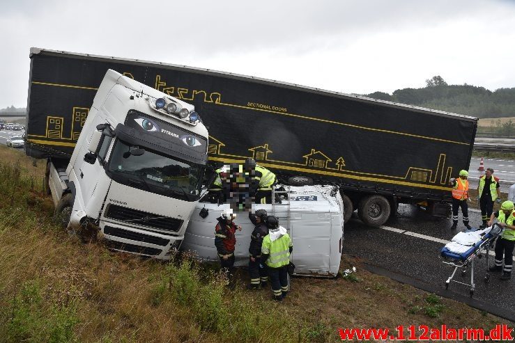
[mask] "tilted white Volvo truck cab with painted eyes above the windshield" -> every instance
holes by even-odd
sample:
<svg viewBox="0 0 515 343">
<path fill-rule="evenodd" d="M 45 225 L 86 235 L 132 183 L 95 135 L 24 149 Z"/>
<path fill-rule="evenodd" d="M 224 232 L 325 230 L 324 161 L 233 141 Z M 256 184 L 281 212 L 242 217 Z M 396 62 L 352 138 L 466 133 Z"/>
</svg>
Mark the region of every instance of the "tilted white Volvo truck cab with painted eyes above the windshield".
<svg viewBox="0 0 515 343">
<path fill-rule="evenodd" d="M 167 260 L 183 240 L 207 162 L 194 106 L 108 70 L 68 166 L 48 186 L 68 230 L 93 224 L 115 250 Z"/>
</svg>

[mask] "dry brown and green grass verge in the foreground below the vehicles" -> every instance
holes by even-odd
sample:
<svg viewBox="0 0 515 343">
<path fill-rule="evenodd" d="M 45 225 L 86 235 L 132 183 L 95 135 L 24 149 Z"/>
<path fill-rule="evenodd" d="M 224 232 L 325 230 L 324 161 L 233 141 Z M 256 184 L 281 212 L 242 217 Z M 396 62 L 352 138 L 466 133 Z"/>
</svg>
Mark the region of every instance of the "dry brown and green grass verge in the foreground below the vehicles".
<svg viewBox="0 0 515 343">
<path fill-rule="evenodd" d="M 507 321 L 368 273 L 293 278 L 282 303 L 269 289 L 225 287 L 217 266 L 170 263 L 82 244 L 52 222 L 44 163 L 0 147 L 1 342 L 338 342 L 338 328 L 400 324 L 489 329 Z M 513 326 L 512 323 L 507 323 Z"/>
</svg>

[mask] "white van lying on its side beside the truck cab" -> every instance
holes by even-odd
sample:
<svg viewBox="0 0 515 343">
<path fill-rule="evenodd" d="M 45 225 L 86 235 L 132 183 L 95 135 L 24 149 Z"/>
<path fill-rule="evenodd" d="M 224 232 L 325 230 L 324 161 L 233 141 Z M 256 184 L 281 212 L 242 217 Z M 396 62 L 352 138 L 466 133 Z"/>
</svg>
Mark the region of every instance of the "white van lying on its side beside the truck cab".
<svg viewBox="0 0 515 343">
<path fill-rule="evenodd" d="M 280 186 L 280 185 L 279 185 Z M 291 262 L 295 274 L 304 276 L 337 276 L 344 240 L 344 205 L 336 186 L 285 186 L 286 199 L 281 204 L 256 204 L 269 215 L 279 218 L 293 241 Z M 229 205 L 199 202 L 190 217 L 182 250 L 190 250 L 201 260 L 217 261 L 215 225 L 222 210 Z M 201 210 L 208 210 L 202 218 Z M 250 234 L 254 225 L 248 212 L 237 212 L 234 220 L 243 230 L 236 231 L 236 266 L 249 261 Z"/>
</svg>

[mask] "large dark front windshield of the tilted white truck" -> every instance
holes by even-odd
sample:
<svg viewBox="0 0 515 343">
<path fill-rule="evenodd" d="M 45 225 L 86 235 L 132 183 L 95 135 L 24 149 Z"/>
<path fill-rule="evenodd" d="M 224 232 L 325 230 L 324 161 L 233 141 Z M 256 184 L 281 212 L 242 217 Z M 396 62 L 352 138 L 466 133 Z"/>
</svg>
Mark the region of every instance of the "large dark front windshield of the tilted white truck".
<svg viewBox="0 0 515 343">
<path fill-rule="evenodd" d="M 144 191 L 187 201 L 198 200 L 203 167 L 144 150 L 131 154 L 132 147 L 116 141 L 107 170 L 115 181 Z M 115 177 L 116 175 L 116 177 Z"/>
</svg>

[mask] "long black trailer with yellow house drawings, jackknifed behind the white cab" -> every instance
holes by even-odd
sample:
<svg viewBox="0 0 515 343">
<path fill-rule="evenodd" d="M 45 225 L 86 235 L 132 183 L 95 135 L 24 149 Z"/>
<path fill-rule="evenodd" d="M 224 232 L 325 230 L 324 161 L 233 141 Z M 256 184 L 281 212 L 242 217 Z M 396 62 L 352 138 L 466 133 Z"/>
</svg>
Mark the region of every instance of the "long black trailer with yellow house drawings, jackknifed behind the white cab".
<svg viewBox="0 0 515 343">
<path fill-rule="evenodd" d="M 383 224 L 399 202 L 447 214 L 477 118 L 227 72 L 31 49 L 26 154 L 68 159 L 108 69 L 194 104 L 209 159 L 247 157 L 291 182 L 339 184 L 346 219 Z M 309 179 L 309 178 L 308 178 Z M 309 180 L 307 180 L 309 182 Z"/>
</svg>

